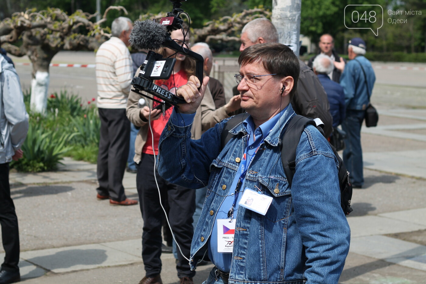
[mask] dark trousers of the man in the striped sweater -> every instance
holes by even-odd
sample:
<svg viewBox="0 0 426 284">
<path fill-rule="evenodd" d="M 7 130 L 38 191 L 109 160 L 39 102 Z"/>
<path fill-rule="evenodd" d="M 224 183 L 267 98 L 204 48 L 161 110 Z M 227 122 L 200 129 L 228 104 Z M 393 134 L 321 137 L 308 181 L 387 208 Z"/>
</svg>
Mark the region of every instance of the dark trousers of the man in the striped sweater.
<svg viewBox="0 0 426 284">
<path fill-rule="evenodd" d="M 123 176 L 129 155 L 130 123 L 126 109 L 99 108 L 101 137 L 98 154 L 99 194 L 115 201 L 126 199 Z"/>
</svg>

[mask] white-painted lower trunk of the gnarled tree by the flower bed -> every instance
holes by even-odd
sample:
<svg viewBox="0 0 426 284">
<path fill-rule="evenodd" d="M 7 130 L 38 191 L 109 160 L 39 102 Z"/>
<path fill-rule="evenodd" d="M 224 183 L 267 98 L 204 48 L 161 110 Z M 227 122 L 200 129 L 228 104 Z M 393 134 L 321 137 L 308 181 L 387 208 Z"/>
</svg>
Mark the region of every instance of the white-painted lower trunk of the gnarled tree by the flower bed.
<svg viewBox="0 0 426 284">
<path fill-rule="evenodd" d="M 49 87 L 49 72 L 35 72 L 31 80 L 31 110 L 45 113 L 47 108 L 47 89 Z"/>
</svg>

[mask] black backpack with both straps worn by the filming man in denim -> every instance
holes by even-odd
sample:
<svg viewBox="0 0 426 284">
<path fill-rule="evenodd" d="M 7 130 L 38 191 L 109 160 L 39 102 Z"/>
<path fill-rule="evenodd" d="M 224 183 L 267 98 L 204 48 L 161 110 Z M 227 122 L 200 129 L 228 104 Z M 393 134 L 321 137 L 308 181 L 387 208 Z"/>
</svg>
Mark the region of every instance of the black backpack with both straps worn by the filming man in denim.
<svg viewBox="0 0 426 284">
<path fill-rule="evenodd" d="M 222 129 L 221 134 L 221 149 L 223 149 L 226 143 L 229 142 L 229 140 L 234 136 L 233 134 L 229 133 L 229 130 L 239 125 L 247 118 L 247 116 L 247 113 L 241 113 L 233 116 L 226 122 L 226 125 Z M 296 171 L 296 148 L 299 144 L 300 136 L 302 135 L 303 130 L 308 125 L 314 125 L 317 127 L 317 124 L 314 122 L 314 120 L 305 116 L 296 115 L 291 119 L 285 132 L 281 136 L 279 146 L 281 148 L 282 167 L 284 168 L 284 172 L 287 176 L 290 188 L 294 172 Z M 322 134 L 324 134 L 320 126 L 317 128 Z M 286 145 L 286 147 L 283 148 L 282 145 Z M 349 178 L 349 172 L 346 170 L 345 164 L 343 164 L 342 159 L 340 158 L 339 154 L 337 154 L 337 151 L 333 145 L 330 144 L 330 147 L 333 149 L 334 155 L 336 155 L 337 161 L 339 162 L 340 206 L 342 206 L 345 215 L 349 215 L 349 213 L 353 211 L 351 208 L 352 184 Z M 289 150 L 284 151 L 284 149 Z"/>
</svg>

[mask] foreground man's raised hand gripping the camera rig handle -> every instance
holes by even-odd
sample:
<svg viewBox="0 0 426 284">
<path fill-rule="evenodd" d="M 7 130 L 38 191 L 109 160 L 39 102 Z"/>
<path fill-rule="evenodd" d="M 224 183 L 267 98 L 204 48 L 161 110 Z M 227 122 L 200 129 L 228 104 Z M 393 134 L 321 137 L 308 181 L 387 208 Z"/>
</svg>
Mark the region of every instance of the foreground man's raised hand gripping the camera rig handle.
<svg viewBox="0 0 426 284">
<path fill-rule="evenodd" d="M 201 88 L 198 90 L 200 81 L 196 76 L 192 75 L 188 82 L 177 90 L 176 95 L 182 97 L 187 102 L 186 104 L 179 104 L 180 113 L 190 114 L 197 111 L 204 98 L 208 82 L 209 77 L 204 77 Z"/>
</svg>

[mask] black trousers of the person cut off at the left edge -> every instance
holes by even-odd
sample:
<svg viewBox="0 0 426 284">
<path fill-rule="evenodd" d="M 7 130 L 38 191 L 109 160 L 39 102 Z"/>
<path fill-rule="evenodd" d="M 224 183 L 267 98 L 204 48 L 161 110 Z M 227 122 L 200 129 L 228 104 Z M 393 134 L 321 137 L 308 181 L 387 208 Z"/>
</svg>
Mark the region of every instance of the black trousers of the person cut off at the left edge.
<svg viewBox="0 0 426 284">
<path fill-rule="evenodd" d="M 6 252 L 2 270 L 19 271 L 19 230 L 15 206 L 10 197 L 9 163 L 0 164 L 0 224 Z"/>
</svg>

